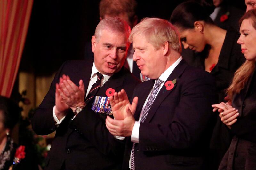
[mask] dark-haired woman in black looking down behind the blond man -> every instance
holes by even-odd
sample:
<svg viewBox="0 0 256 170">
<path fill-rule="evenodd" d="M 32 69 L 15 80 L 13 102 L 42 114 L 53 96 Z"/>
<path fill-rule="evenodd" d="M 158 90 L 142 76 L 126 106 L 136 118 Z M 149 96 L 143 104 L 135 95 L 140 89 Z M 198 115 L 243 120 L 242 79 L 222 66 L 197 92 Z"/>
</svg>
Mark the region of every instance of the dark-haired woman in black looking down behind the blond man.
<svg viewBox="0 0 256 170">
<path fill-rule="evenodd" d="M 224 101 L 235 71 L 244 63 L 240 46 L 236 43 L 239 33 L 235 29 L 224 30 L 214 25 L 209 15 L 215 6 L 205 1 L 186 1 L 172 12 L 170 21 L 180 32 L 184 48 L 194 50 L 192 65 L 210 72 L 216 80 L 219 102 Z M 217 117 L 217 115 L 216 115 Z M 227 151 L 232 135 L 220 119 L 217 119 L 211 139 L 212 166 L 217 169 Z"/>
</svg>

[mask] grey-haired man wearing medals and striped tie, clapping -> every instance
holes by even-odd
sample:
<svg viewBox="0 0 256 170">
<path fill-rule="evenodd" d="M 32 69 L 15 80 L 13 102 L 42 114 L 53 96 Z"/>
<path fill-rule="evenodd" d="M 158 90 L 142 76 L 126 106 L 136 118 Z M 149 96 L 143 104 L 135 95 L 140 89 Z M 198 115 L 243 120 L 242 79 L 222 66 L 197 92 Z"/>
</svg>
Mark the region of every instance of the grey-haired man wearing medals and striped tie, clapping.
<svg viewBox="0 0 256 170">
<path fill-rule="evenodd" d="M 123 67 L 130 27 L 122 19 L 100 21 L 92 36 L 94 60 L 67 61 L 32 118 L 38 135 L 56 130 L 46 168 L 120 169 L 124 143 L 108 132 L 109 97 L 125 89 L 132 97 L 137 79 Z"/>
</svg>

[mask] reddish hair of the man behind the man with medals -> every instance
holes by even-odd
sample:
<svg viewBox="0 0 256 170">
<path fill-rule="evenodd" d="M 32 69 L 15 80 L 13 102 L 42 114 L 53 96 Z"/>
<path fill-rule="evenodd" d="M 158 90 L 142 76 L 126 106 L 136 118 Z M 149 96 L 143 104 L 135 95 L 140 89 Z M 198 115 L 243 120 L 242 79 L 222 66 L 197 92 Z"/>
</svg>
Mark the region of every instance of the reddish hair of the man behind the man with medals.
<svg viewBox="0 0 256 170">
<path fill-rule="evenodd" d="M 100 17 L 105 15 L 118 16 L 127 14 L 130 22 L 135 16 L 137 2 L 135 0 L 101 0 L 99 5 Z"/>
</svg>

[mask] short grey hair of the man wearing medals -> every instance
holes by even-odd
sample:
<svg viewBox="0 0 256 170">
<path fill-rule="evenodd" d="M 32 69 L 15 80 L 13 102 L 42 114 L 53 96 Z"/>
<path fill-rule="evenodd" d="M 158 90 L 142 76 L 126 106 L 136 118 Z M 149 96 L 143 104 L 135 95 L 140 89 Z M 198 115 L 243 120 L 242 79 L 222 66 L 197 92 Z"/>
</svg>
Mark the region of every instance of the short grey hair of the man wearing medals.
<svg viewBox="0 0 256 170">
<path fill-rule="evenodd" d="M 94 33 L 94 36 L 97 42 L 101 37 L 102 30 L 109 30 L 112 32 L 123 33 L 127 36 L 127 38 L 129 37 L 131 32 L 131 28 L 128 25 L 128 23 L 123 19 L 120 19 L 117 17 L 105 18 L 99 22 Z"/>
</svg>

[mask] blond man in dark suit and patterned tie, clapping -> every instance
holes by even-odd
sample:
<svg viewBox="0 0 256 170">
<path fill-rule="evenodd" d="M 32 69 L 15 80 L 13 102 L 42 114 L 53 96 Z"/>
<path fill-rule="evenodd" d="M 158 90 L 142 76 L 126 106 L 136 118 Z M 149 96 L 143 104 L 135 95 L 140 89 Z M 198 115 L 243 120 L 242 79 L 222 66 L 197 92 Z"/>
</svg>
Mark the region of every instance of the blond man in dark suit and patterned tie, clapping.
<svg viewBox="0 0 256 170">
<path fill-rule="evenodd" d="M 110 98 L 115 119 L 107 116 L 106 126 L 127 138 L 123 169 L 207 169 L 217 99 L 212 76 L 182 59 L 176 28 L 164 19 L 143 19 L 129 41 L 151 80 L 136 86 L 132 104 L 124 89 Z"/>
</svg>

